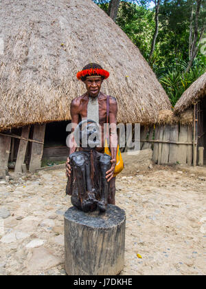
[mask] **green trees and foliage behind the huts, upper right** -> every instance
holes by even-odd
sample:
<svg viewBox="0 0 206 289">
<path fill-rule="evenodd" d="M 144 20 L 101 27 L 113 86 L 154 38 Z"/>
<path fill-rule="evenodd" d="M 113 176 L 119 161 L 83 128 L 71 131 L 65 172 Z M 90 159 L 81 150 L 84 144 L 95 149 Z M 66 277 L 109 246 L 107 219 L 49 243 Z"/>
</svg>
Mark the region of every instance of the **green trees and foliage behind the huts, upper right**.
<svg viewBox="0 0 206 289">
<path fill-rule="evenodd" d="M 93 0 L 146 58 L 172 105 L 206 71 L 206 1 Z"/>
</svg>

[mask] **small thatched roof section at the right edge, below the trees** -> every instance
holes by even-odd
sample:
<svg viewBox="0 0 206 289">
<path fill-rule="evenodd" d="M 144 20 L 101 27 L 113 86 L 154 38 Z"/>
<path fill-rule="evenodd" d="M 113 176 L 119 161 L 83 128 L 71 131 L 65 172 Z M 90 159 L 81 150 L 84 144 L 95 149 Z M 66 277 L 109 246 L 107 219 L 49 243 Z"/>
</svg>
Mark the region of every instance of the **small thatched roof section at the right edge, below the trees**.
<svg viewBox="0 0 206 289">
<path fill-rule="evenodd" d="M 206 72 L 183 93 L 174 107 L 174 113 L 179 114 L 185 111 L 204 96 L 206 96 Z"/>
</svg>

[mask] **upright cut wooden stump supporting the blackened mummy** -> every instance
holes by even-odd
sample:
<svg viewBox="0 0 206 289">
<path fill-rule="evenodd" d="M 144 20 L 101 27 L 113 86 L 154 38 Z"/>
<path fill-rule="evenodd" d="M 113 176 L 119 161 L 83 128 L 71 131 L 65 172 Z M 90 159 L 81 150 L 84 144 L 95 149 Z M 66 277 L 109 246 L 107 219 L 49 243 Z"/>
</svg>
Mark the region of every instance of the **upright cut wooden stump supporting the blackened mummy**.
<svg viewBox="0 0 206 289">
<path fill-rule="evenodd" d="M 67 275 L 117 275 L 124 267 L 126 214 L 108 204 L 105 213 L 65 213 Z"/>
</svg>

